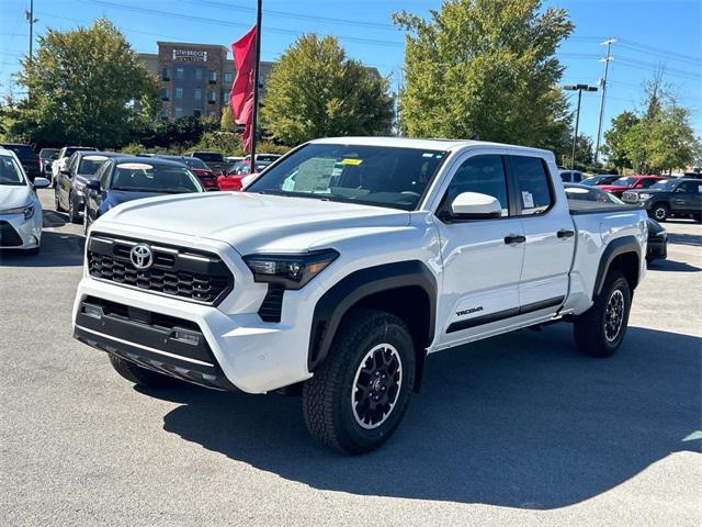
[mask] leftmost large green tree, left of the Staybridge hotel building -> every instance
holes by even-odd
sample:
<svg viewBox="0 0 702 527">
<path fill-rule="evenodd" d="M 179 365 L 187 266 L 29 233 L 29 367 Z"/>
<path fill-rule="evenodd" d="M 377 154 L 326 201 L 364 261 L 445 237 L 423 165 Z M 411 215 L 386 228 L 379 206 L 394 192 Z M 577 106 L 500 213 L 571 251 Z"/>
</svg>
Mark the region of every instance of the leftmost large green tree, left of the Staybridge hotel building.
<svg viewBox="0 0 702 527">
<path fill-rule="evenodd" d="M 13 132 L 39 144 L 118 146 L 160 110 L 156 79 L 106 19 L 69 32 L 48 30 L 18 80 L 27 99 Z"/>
</svg>

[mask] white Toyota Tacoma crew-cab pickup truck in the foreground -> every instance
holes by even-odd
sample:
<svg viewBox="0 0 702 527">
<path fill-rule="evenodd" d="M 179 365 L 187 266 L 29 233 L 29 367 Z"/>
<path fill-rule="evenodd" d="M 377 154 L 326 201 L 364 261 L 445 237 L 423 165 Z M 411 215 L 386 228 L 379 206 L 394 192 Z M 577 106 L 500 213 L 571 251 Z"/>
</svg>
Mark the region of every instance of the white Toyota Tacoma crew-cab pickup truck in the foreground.
<svg viewBox="0 0 702 527">
<path fill-rule="evenodd" d="M 138 384 L 302 394 L 312 435 L 359 453 L 394 433 L 435 351 L 564 321 L 582 352 L 613 354 L 646 228 L 636 208 L 569 203 L 550 152 L 325 138 L 244 192 L 104 214 L 73 332 Z"/>
</svg>

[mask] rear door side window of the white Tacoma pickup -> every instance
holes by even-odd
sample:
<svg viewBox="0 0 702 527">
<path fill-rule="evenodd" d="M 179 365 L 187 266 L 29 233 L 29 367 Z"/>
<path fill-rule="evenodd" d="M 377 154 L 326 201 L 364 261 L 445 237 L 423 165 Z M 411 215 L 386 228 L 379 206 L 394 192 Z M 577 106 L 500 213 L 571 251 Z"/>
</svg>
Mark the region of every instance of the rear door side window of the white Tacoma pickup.
<svg viewBox="0 0 702 527">
<path fill-rule="evenodd" d="M 510 156 L 522 215 L 541 214 L 553 204 L 546 164 L 541 157 Z"/>
</svg>

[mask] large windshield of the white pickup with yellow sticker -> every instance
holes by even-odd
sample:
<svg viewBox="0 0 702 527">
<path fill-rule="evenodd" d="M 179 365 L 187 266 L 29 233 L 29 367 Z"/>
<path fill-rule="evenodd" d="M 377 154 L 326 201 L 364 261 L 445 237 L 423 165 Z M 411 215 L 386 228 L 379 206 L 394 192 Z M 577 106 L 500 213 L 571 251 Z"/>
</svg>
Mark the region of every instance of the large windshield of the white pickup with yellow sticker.
<svg viewBox="0 0 702 527">
<path fill-rule="evenodd" d="M 247 192 L 414 210 L 445 152 L 310 144 L 268 168 Z"/>
</svg>

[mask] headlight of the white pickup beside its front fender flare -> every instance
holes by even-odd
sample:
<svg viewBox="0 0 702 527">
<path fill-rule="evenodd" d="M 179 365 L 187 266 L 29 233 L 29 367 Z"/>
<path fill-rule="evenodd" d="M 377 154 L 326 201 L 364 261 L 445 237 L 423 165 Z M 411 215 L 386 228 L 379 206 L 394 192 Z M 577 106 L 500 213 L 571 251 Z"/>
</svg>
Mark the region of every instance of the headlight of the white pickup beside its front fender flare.
<svg viewBox="0 0 702 527">
<path fill-rule="evenodd" d="M 304 255 L 250 255 L 244 261 L 257 282 L 301 289 L 338 257 L 336 250 L 325 249 Z"/>
</svg>

